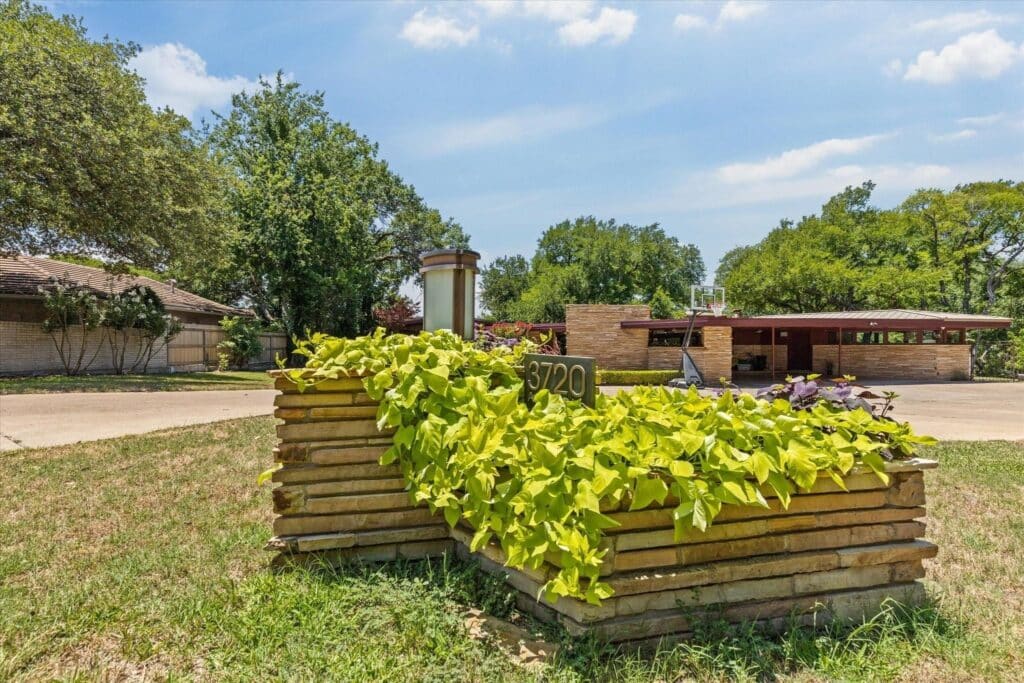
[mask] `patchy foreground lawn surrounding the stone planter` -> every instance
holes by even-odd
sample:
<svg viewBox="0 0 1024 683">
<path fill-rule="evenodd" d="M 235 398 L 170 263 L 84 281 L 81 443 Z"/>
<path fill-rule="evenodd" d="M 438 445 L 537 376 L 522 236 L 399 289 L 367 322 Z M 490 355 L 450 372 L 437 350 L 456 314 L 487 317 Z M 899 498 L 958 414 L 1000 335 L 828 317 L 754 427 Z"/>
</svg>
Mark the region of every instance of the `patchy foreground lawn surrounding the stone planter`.
<svg viewBox="0 0 1024 683">
<path fill-rule="evenodd" d="M 3 457 L 0 680 L 1019 679 L 1024 445 L 932 450 L 934 604 L 785 637 L 708 626 L 656 656 L 564 641 L 542 672 L 467 636 L 509 593 L 456 561 L 267 569 L 273 421 L 251 418 Z M 559 639 L 555 631 L 545 636 Z"/>
</svg>

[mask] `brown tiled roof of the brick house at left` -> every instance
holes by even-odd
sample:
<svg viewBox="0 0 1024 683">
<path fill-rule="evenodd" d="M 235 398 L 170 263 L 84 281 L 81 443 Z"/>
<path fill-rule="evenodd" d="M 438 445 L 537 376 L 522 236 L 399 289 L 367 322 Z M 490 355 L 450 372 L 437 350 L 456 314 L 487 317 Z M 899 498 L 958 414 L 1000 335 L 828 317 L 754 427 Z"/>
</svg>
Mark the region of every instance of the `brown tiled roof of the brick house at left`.
<svg viewBox="0 0 1024 683">
<path fill-rule="evenodd" d="M 123 292 L 141 285 L 152 289 L 170 310 L 211 313 L 216 315 L 251 315 L 243 308 L 222 303 L 178 289 L 167 283 L 140 275 L 116 275 L 102 268 L 67 263 L 38 256 L 0 256 L 0 296 L 39 296 L 39 288 L 51 283 L 53 278 L 67 278 L 79 287 L 105 295 L 113 289 Z"/>
</svg>

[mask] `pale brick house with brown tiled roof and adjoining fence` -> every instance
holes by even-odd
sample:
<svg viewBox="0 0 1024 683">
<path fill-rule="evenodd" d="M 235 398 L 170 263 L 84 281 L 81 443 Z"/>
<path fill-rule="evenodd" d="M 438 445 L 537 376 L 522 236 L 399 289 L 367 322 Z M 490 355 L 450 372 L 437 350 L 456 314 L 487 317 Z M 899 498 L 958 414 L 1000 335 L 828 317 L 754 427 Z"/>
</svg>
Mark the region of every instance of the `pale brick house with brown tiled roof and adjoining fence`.
<svg viewBox="0 0 1024 683">
<path fill-rule="evenodd" d="M 182 332 L 162 348 L 150 364 L 150 372 L 209 370 L 217 367 L 217 344 L 224 334 L 219 322 L 225 315 L 252 312 L 225 306 L 186 292 L 174 284 L 136 275 L 114 275 L 102 268 L 66 263 L 34 256 L 0 256 L 0 375 L 52 374 L 63 372 L 50 335 L 43 331 L 45 317 L 40 287 L 65 279 L 98 297 L 123 292 L 137 285 L 148 287 L 167 312 L 184 324 Z M 102 334 L 91 334 L 87 357 L 95 357 L 86 372 L 111 372 L 111 354 L 102 348 Z M 254 365 L 269 365 L 275 353 L 285 352 L 287 338 L 281 333 L 261 336 L 263 353 Z M 129 349 L 129 357 L 133 351 Z"/>
</svg>

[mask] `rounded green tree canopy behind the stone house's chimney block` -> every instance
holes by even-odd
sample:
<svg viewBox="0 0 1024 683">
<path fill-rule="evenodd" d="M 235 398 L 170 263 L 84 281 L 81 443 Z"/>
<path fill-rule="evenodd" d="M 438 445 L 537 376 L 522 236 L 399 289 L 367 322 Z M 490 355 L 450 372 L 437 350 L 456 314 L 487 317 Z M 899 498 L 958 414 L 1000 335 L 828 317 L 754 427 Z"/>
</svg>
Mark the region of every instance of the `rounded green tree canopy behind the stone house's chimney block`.
<svg viewBox="0 0 1024 683">
<path fill-rule="evenodd" d="M 484 267 L 480 299 L 498 318 L 558 322 L 566 303 L 647 303 L 658 290 L 681 302 L 703 275 L 699 250 L 657 223 L 585 216 L 545 230 L 528 268 L 522 256 Z"/>
</svg>

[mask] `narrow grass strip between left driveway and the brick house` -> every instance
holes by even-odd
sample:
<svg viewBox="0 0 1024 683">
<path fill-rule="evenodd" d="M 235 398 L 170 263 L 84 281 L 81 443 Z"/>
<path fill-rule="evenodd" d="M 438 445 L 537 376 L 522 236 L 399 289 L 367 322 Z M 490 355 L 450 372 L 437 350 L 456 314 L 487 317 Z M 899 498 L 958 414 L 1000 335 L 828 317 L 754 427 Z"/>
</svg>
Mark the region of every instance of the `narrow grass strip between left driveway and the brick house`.
<svg viewBox="0 0 1024 683">
<path fill-rule="evenodd" d="M 69 393 L 77 391 L 202 391 L 205 389 L 269 389 L 273 379 L 263 371 L 153 375 L 46 375 L 2 377 L 0 395 Z"/>
</svg>

